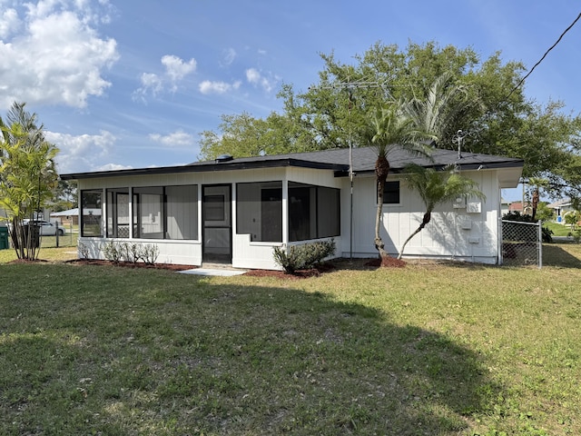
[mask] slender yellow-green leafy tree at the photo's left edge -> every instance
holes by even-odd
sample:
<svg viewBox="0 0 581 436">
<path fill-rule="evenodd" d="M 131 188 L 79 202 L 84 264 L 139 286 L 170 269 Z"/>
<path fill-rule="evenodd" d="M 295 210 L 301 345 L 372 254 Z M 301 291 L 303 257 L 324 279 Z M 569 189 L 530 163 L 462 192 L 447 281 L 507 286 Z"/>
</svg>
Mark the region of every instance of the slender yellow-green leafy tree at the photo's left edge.
<svg viewBox="0 0 581 436">
<path fill-rule="evenodd" d="M 44 140 L 43 126 L 37 126 L 36 114 L 25 111 L 25 104 L 15 103 L 0 118 L 0 207 L 19 259 L 36 259 L 37 228 L 25 225 L 34 219 L 53 197 L 58 175 L 54 157 L 58 149 Z"/>
</svg>

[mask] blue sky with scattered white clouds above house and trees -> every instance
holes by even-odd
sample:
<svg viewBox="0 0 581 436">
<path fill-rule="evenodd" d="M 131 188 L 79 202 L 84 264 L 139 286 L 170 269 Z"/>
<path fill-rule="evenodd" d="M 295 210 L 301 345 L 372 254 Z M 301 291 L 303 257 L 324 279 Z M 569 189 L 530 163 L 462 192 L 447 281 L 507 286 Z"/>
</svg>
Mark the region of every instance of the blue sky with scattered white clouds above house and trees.
<svg viewBox="0 0 581 436">
<path fill-rule="evenodd" d="M 190 163 L 222 114 L 281 110 L 318 82 L 320 53 L 471 46 L 531 68 L 581 12 L 568 0 L 0 0 L 0 114 L 38 114 L 61 173 Z M 581 112 L 581 23 L 525 84 Z"/>
</svg>

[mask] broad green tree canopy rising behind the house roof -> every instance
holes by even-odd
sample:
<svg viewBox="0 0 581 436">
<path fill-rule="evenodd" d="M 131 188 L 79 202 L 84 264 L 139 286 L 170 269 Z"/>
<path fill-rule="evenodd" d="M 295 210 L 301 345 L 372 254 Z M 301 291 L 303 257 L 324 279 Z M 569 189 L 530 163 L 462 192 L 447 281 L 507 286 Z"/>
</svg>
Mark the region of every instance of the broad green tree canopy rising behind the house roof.
<svg viewBox="0 0 581 436">
<path fill-rule="evenodd" d="M 354 64 L 342 63 L 333 53 L 320 57 L 318 83 L 302 92 L 282 85 L 282 113 L 264 120 L 224 115 L 222 134 L 202 134 L 201 157 L 367 146 L 365 130 L 373 111 L 394 100 L 428 102 L 430 88 L 446 75 L 445 86 L 461 92 L 447 104 L 457 110 L 438 147 L 458 147 L 452 138 L 462 130 L 468 133 L 465 151 L 522 158 L 525 180 L 544 177 L 550 181 L 548 192 L 581 196 L 581 118 L 566 114 L 562 102 L 537 104 L 527 97 L 518 86 L 523 64 L 503 63 L 500 52 L 482 60 L 471 47 L 435 42 L 410 42 L 404 50 L 377 42 L 355 55 Z"/>
</svg>

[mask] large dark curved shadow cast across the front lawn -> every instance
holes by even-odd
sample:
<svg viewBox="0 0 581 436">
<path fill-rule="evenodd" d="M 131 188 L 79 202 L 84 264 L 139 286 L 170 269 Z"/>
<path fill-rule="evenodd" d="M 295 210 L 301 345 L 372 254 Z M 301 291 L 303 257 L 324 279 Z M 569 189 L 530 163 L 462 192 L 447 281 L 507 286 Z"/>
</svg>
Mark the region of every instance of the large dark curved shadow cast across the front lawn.
<svg viewBox="0 0 581 436">
<path fill-rule="evenodd" d="M 34 308 L 13 294 L 0 432 L 458 434 L 500 393 L 477 353 L 323 292 L 106 272 L 51 283 Z"/>
</svg>

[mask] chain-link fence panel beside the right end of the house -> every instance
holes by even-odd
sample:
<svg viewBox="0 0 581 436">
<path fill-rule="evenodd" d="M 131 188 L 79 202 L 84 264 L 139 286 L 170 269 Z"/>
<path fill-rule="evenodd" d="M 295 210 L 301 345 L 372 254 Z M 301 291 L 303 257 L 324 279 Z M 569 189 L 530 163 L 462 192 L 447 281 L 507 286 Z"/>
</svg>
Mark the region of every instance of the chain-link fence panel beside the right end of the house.
<svg viewBox="0 0 581 436">
<path fill-rule="evenodd" d="M 523 223 L 502 220 L 502 263 L 543 267 L 541 222 Z"/>
</svg>

